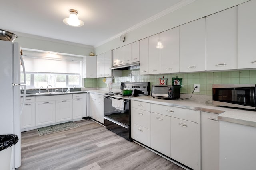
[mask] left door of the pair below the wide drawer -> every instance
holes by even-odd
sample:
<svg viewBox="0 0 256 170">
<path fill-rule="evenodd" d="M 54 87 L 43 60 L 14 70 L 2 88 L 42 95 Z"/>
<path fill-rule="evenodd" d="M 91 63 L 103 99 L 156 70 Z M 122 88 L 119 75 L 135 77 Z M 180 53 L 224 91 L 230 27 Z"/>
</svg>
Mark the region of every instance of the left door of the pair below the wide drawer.
<svg viewBox="0 0 256 170">
<path fill-rule="evenodd" d="M 150 113 L 150 147 L 170 157 L 170 117 Z"/>
</svg>

